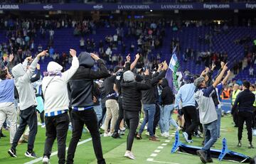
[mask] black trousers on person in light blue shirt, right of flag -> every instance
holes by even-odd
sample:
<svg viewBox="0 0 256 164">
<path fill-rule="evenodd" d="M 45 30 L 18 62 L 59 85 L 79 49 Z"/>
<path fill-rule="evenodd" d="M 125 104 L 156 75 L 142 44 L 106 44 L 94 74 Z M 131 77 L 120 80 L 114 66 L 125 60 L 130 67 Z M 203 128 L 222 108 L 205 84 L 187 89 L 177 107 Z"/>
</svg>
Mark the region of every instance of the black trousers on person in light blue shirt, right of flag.
<svg viewBox="0 0 256 164">
<path fill-rule="evenodd" d="M 184 114 L 186 133 L 188 133 L 188 139 L 192 139 L 193 131 L 198 126 L 198 113 L 195 106 L 185 106 L 182 108 Z"/>
</svg>

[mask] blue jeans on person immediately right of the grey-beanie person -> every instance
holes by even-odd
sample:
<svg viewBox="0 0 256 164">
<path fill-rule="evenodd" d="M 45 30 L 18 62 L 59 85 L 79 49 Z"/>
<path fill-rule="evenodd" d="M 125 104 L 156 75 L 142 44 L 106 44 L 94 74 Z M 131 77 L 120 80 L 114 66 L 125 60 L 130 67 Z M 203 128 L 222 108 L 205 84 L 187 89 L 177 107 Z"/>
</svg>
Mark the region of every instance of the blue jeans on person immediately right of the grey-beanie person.
<svg viewBox="0 0 256 164">
<path fill-rule="evenodd" d="M 139 133 L 144 131 L 146 123 L 148 123 L 149 136 L 154 136 L 153 133 L 153 123 L 154 123 L 154 114 L 156 113 L 156 104 L 143 104 L 143 109 L 145 112 L 145 119 L 142 123 L 142 126 L 139 128 Z"/>
</svg>

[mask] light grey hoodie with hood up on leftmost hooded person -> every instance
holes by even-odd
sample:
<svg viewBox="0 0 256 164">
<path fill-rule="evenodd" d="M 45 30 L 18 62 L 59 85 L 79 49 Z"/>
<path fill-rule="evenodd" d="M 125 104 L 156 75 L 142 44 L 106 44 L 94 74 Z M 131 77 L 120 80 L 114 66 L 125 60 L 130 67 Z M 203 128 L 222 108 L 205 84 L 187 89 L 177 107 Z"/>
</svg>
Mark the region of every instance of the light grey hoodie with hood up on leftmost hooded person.
<svg viewBox="0 0 256 164">
<path fill-rule="evenodd" d="M 31 77 L 33 72 L 36 70 L 37 63 L 38 58 L 35 58 L 27 71 L 24 70 L 24 65 L 21 65 L 21 63 L 15 65 L 12 69 L 12 74 L 14 75 L 14 84 L 18 90 L 21 110 L 25 110 L 30 106 L 37 105 L 36 94 L 31 83 Z"/>
</svg>

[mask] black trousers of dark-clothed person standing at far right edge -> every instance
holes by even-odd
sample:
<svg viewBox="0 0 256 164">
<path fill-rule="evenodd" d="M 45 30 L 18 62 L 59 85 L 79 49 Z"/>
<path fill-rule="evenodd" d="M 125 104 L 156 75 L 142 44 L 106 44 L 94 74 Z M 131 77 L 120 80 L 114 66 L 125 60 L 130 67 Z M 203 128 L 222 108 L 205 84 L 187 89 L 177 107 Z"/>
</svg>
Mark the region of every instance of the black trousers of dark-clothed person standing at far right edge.
<svg viewBox="0 0 256 164">
<path fill-rule="evenodd" d="M 252 142 L 252 113 L 249 111 L 238 111 L 238 140 L 242 139 L 242 129 L 245 122 L 248 141 Z"/>
</svg>

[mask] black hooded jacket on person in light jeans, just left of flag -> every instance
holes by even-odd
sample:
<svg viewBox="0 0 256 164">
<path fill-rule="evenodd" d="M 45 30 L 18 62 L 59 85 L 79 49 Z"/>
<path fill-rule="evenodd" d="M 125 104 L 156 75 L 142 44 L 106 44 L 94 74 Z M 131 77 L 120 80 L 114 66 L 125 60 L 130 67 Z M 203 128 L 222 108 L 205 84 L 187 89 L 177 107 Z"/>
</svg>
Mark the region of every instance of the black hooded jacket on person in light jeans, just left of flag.
<svg viewBox="0 0 256 164">
<path fill-rule="evenodd" d="M 171 91 L 171 87 L 169 87 L 168 81 L 166 78 L 162 80 L 161 86 L 163 87 L 161 91 L 161 99 L 163 105 L 174 104 L 174 94 Z"/>
</svg>

